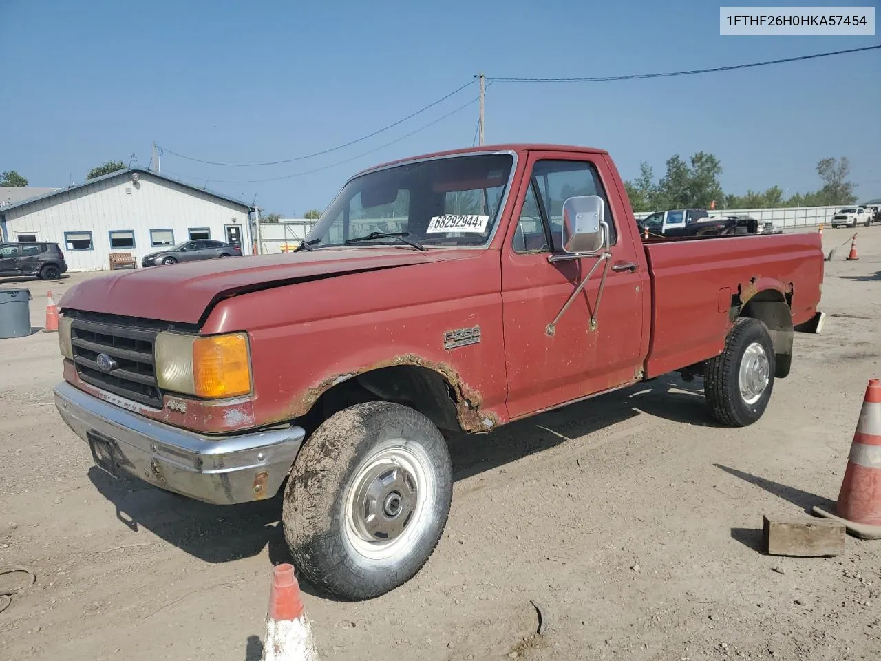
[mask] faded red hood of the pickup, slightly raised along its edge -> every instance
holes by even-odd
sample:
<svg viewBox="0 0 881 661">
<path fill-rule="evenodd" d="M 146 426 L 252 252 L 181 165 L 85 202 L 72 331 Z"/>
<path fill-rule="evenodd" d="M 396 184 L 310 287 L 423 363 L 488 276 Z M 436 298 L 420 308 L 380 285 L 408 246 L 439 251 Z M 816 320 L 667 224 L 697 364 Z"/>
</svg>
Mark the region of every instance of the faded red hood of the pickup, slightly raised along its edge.
<svg viewBox="0 0 881 661">
<path fill-rule="evenodd" d="M 239 293 L 307 280 L 428 264 L 473 251 L 399 248 L 315 249 L 153 266 L 84 280 L 64 293 L 59 308 L 199 323 L 217 301 Z"/>
</svg>

